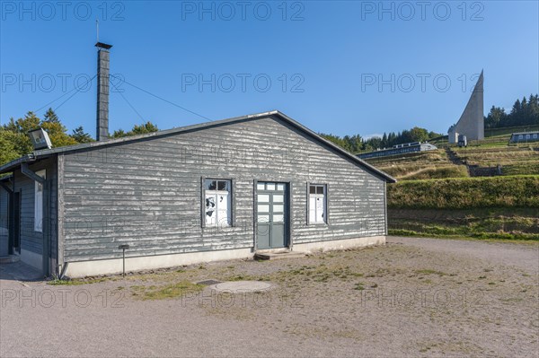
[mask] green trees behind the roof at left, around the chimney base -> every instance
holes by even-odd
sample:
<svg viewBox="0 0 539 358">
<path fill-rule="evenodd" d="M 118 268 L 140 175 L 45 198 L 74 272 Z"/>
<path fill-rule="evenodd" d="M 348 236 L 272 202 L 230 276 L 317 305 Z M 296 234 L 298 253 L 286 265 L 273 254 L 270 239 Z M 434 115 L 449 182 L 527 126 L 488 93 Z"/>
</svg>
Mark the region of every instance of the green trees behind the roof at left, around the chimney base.
<svg viewBox="0 0 539 358">
<path fill-rule="evenodd" d="M 68 134 L 67 128 L 52 109 L 47 110 L 43 118 L 39 118 L 34 112 L 28 112 L 23 118 L 16 120 L 10 118 L 6 124 L 0 126 L 0 165 L 33 152 L 28 132 L 36 128 L 43 128 L 47 131 L 53 147 L 95 141 L 92 135 L 84 131 L 82 126 L 76 127 L 71 134 Z M 142 135 L 158 130 L 159 128 L 155 124 L 148 121 L 141 125 L 135 125 L 127 132 L 123 129 L 116 130 L 110 136 L 120 138 L 129 135 Z"/>
</svg>

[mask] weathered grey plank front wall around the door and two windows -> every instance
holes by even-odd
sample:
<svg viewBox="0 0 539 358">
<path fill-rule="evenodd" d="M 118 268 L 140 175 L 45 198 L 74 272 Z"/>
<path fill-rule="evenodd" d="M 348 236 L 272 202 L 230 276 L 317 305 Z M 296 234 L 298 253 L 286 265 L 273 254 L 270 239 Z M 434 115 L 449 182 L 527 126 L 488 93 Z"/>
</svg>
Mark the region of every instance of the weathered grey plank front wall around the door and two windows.
<svg viewBox="0 0 539 358">
<path fill-rule="evenodd" d="M 252 248 L 254 180 L 291 183 L 293 243 L 385 234 L 384 179 L 276 117 L 60 156 L 66 262 Z M 234 227 L 201 227 L 202 177 L 234 180 Z M 307 182 L 329 225 L 306 223 Z"/>
</svg>

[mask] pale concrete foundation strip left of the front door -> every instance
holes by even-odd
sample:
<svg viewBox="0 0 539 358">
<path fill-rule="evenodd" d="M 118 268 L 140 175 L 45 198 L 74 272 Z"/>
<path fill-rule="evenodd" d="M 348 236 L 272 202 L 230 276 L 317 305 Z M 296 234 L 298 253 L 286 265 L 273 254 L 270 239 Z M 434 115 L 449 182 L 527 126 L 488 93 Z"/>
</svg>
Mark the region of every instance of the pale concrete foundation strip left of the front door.
<svg viewBox="0 0 539 358">
<path fill-rule="evenodd" d="M 252 258 L 252 256 L 252 249 L 226 249 L 216 251 L 188 252 L 172 255 L 126 258 L 126 272 L 181 265 L 193 265 L 209 261 Z M 66 276 L 73 278 L 92 275 L 111 275 L 119 274 L 121 272 L 121 258 L 70 262 L 66 268 Z"/>
</svg>

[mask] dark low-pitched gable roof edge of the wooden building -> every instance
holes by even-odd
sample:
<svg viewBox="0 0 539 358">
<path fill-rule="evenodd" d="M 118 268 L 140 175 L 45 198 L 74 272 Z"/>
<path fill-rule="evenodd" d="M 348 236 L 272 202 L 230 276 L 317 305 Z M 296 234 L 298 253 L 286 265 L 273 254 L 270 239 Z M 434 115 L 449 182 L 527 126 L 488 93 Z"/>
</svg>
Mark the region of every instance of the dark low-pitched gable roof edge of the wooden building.
<svg viewBox="0 0 539 358">
<path fill-rule="evenodd" d="M 278 110 L 272 110 L 269 112 L 262 112 L 262 113 L 256 113 L 252 115 L 242 116 L 242 117 L 234 117 L 234 118 L 227 118 L 227 119 L 221 119 L 221 120 L 215 120 L 208 123 L 200 123 L 198 125 L 193 126 L 186 126 L 186 127 L 176 127 L 172 129 L 166 129 L 158 132 L 153 133 L 147 133 L 144 135 L 132 135 L 128 137 L 123 138 L 117 138 L 117 139 L 110 139 L 108 141 L 102 141 L 102 142 L 92 142 L 92 143 L 84 143 L 84 144 L 75 144 L 75 145 L 69 145 L 69 146 L 63 146 L 58 148 L 52 148 L 52 149 L 44 149 L 40 151 L 35 151 L 31 154 L 27 154 L 22 156 L 19 159 L 16 159 L 12 162 L 8 162 L 2 166 L 0 166 L 0 174 L 4 172 L 11 171 L 15 168 L 17 168 L 19 165 L 21 165 L 23 162 L 33 162 L 38 159 L 47 158 L 51 155 L 57 154 L 57 153 L 73 153 L 78 152 L 86 149 L 93 149 L 98 148 L 106 145 L 113 145 L 113 144 L 126 144 L 131 142 L 136 142 L 138 140 L 142 139 L 153 139 L 153 138 L 159 138 L 165 135 L 174 135 L 174 134 L 180 134 L 180 133 L 186 133 L 191 132 L 195 130 L 205 129 L 208 127 L 216 127 L 216 126 L 223 126 L 228 124 L 233 124 L 237 122 L 242 121 L 248 121 L 248 120 L 255 120 L 258 118 L 268 118 L 268 117 L 277 117 L 287 124 L 291 125 L 292 127 L 296 127 L 299 131 L 304 133 L 305 135 L 311 136 L 314 140 L 317 142 L 324 144 L 328 147 L 329 150 L 331 150 L 334 153 L 340 153 L 341 155 L 345 156 L 347 159 L 350 160 L 350 162 L 355 163 L 358 165 L 358 167 L 367 170 L 370 174 L 380 178 L 384 179 L 387 182 L 394 183 L 397 180 L 394 179 L 392 176 L 384 173 L 382 170 L 376 169 L 374 166 L 368 164 L 367 162 L 361 160 L 356 155 L 349 153 L 345 151 L 344 149 L 340 148 L 337 144 L 333 144 L 331 141 L 323 138 L 321 135 L 318 135 L 311 129 L 303 126 L 299 122 L 296 122 L 296 120 L 289 118 L 284 113 L 279 112 Z"/>
</svg>

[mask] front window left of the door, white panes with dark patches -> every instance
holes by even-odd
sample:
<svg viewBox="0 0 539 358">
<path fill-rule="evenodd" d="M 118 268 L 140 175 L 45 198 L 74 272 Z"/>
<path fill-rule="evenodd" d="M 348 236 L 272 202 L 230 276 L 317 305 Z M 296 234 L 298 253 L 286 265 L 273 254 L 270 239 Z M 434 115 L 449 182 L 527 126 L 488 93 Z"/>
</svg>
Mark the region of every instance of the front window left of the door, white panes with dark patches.
<svg viewBox="0 0 539 358">
<path fill-rule="evenodd" d="M 216 181 L 216 189 L 207 188 L 208 182 Z M 226 182 L 227 190 L 219 190 L 218 182 Z M 210 179 L 203 180 L 203 212 L 204 227 L 228 227 L 232 226 L 232 179 Z M 212 212 L 216 214 L 216 220 L 208 220 L 208 200 L 213 199 Z M 222 209 L 225 206 L 225 209 Z"/>
</svg>

